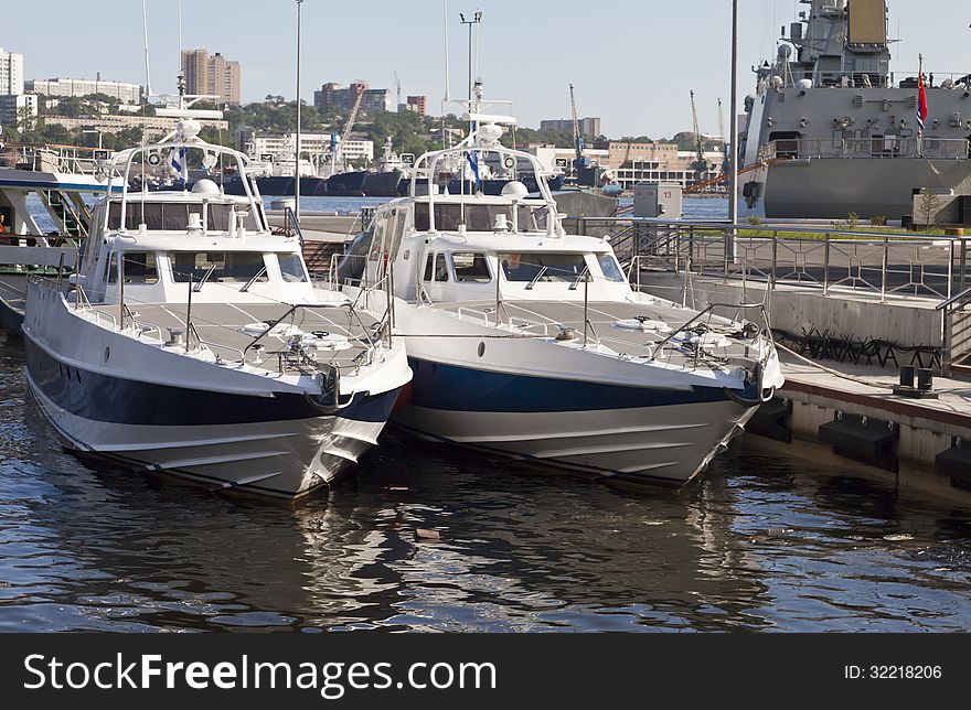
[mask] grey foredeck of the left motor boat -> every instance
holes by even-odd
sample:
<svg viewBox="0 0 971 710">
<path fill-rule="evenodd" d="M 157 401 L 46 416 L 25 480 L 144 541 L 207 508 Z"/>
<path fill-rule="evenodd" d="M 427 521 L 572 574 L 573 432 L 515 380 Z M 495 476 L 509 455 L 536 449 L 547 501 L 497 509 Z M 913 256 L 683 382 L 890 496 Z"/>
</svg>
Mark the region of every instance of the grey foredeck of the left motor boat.
<svg viewBox="0 0 971 710">
<path fill-rule="evenodd" d="M 194 347 L 201 342 L 220 361 L 245 361 L 274 374 L 313 375 L 317 365 L 339 367 L 342 372 L 356 369 L 366 359 L 371 343 L 377 341 L 377 321 L 339 302 L 301 306 L 288 313 L 290 308 L 285 303 L 193 303 L 194 333 L 190 343 Z M 98 314 L 102 323 L 117 326 L 121 319 L 118 304 L 94 305 L 90 311 Z M 262 330 L 281 318 L 253 346 Z M 138 325 L 139 338 L 173 349 L 185 347 L 189 329 L 184 303 L 139 304 L 131 308 L 130 315 L 126 314 L 126 327 L 130 319 Z M 181 345 L 168 344 L 173 331 L 181 333 Z M 296 336 L 300 347 L 291 348 L 289 343 Z"/>
</svg>

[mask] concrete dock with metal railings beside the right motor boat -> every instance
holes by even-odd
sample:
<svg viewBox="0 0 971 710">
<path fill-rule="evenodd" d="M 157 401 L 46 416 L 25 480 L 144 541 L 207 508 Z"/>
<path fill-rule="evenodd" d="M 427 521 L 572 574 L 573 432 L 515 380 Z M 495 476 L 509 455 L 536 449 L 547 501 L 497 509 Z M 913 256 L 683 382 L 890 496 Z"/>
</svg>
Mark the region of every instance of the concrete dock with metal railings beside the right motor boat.
<svg viewBox="0 0 971 710">
<path fill-rule="evenodd" d="M 609 238 L 634 288 L 767 305 L 787 381 L 750 441 L 971 505 L 971 237 L 739 225 L 732 258 L 724 224 L 574 228 Z M 895 394 L 901 367 L 932 376 L 936 398 Z"/>
</svg>

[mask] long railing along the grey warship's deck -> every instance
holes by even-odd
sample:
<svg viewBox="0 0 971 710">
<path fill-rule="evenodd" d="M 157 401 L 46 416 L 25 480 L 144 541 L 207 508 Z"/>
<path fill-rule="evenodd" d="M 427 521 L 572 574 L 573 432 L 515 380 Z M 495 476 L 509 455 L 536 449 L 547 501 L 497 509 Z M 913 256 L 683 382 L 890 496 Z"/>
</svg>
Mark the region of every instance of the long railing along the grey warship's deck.
<svg viewBox="0 0 971 710">
<path fill-rule="evenodd" d="M 770 141 L 759 149 L 759 161 L 773 159 L 879 159 L 930 158 L 933 160 L 967 160 L 971 158 L 971 141 L 965 138 L 792 138 Z"/>
</svg>

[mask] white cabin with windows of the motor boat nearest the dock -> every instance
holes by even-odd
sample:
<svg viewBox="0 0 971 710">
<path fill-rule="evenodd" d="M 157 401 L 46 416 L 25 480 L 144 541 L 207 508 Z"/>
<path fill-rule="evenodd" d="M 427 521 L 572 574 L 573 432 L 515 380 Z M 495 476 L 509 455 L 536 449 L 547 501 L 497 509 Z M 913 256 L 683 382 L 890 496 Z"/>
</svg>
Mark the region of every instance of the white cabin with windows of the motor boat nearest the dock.
<svg viewBox="0 0 971 710">
<path fill-rule="evenodd" d="M 513 191 L 510 191 L 513 192 Z M 437 195 L 375 213 L 370 245 L 348 259 L 365 286 L 394 266 L 395 294 L 410 302 L 607 300 L 630 292 L 610 245 L 564 233 L 542 198 Z"/>
</svg>

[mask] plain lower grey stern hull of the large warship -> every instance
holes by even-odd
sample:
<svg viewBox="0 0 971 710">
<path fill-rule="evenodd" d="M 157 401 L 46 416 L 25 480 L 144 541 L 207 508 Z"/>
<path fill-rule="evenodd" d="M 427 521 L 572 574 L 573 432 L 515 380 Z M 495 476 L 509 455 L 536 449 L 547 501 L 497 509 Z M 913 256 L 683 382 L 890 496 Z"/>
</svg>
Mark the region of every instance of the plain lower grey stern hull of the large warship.
<svg viewBox="0 0 971 710">
<path fill-rule="evenodd" d="M 971 194 L 971 160 L 793 159 L 758 173 L 749 181 L 762 183 L 768 218 L 845 219 L 854 212 L 863 218 L 900 219 L 914 213 L 916 187 Z"/>
</svg>

